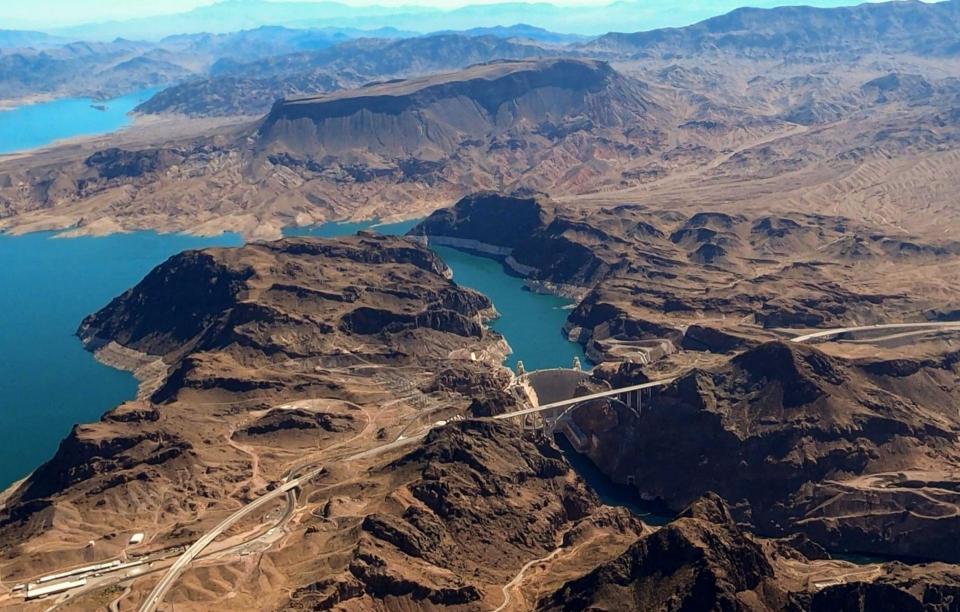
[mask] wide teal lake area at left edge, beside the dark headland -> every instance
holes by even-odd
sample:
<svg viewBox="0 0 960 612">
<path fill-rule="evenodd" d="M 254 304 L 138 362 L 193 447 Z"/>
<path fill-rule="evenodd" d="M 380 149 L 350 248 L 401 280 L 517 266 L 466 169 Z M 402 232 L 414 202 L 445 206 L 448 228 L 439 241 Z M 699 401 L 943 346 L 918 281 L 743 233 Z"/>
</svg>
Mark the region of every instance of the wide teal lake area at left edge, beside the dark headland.
<svg viewBox="0 0 960 612">
<path fill-rule="evenodd" d="M 240 242 L 152 232 L 0 235 L 0 488 L 49 459 L 74 423 L 136 395 L 133 376 L 83 350 L 74 335 L 80 321 L 175 253 Z"/>
</svg>

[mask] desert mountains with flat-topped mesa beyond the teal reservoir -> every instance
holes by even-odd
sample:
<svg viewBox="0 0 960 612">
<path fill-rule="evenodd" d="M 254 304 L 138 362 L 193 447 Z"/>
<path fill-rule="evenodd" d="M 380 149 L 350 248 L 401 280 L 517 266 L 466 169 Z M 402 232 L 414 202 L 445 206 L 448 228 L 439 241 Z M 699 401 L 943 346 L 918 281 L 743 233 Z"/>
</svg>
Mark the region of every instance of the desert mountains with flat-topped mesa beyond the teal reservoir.
<svg viewBox="0 0 960 612">
<path fill-rule="evenodd" d="M 955 219 L 960 80 L 948 41 L 958 7 L 738 11 L 629 44 L 610 35 L 557 45 L 461 33 L 221 58 L 208 62 L 214 76 L 188 79 L 138 110 L 174 122 L 217 115 L 234 123 L 229 130 L 141 138 L 27 170 L 0 166 L 9 185 L 0 187 L 3 223 L 88 223 L 99 213 L 86 203 L 95 202 L 128 228 L 150 219 L 164 229 L 276 236 L 291 223 L 410 217 L 478 189 L 527 188 L 591 205 L 801 206 L 924 231 Z M 843 34 L 852 15 L 859 25 Z M 763 36 L 745 34 L 745 23 Z M 818 45 L 798 49 L 809 24 L 819 24 Z M 278 40 L 300 44 L 302 35 L 279 30 Z M 234 36 L 260 35 L 214 36 L 201 48 Z M 591 56 L 605 58 L 597 70 L 613 86 L 548 76 L 558 66 L 600 66 Z M 507 82 L 493 72 L 522 65 L 537 68 L 501 97 L 484 94 Z M 914 214 L 921 209 L 940 217 Z"/>
</svg>

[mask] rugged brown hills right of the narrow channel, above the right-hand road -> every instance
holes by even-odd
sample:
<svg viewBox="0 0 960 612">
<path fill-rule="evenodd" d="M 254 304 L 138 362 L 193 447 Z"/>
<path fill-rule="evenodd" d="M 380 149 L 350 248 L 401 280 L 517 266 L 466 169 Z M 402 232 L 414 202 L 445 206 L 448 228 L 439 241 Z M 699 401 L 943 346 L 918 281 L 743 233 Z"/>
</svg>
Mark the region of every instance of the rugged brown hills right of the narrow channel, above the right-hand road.
<svg viewBox="0 0 960 612">
<path fill-rule="evenodd" d="M 484 192 L 436 211 L 411 235 L 483 245 L 531 285 L 576 297 L 568 331 L 597 362 L 731 353 L 767 336 L 757 324 L 924 320 L 960 300 L 925 289 L 945 262 L 960 260 L 960 244 L 819 215 L 688 216 Z"/>
</svg>

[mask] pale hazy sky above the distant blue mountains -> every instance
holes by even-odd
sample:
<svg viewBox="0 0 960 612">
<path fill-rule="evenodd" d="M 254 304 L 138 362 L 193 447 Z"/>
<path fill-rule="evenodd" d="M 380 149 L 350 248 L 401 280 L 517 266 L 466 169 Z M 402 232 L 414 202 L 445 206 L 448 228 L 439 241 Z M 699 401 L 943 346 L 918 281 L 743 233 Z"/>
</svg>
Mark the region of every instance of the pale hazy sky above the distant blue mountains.
<svg viewBox="0 0 960 612">
<path fill-rule="evenodd" d="M 160 13 L 178 13 L 204 4 L 213 4 L 215 0 L 0 0 L 0 29 L 24 27 L 56 27 L 112 19 L 147 17 Z M 310 1 L 310 0 L 294 0 Z M 339 0 L 345 4 L 379 4 L 386 6 L 421 5 L 454 8 L 464 4 L 481 4 L 504 0 Z M 546 0 L 552 4 L 604 5 L 611 0 Z M 712 5 L 729 7 L 729 1 L 722 0 L 664 0 L 664 10 L 682 3 L 701 8 L 711 13 Z M 804 4 L 803 0 L 784 0 L 783 2 L 759 2 L 744 0 L 744 5 Z M 837 0 L 809 2 L 810 4 L 843 5 L 856 4 L 856 0 Z M 718 10 L 716 12 L 722 12 Z"/>
</svg>

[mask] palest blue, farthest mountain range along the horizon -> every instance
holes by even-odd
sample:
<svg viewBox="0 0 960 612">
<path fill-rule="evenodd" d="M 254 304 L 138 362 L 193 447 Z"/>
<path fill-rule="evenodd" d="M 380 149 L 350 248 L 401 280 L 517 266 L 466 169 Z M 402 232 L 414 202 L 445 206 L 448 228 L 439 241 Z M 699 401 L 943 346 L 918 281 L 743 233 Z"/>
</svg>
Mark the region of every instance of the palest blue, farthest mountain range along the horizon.
<svg viewBox="0 0 960 612">
<path fill-rule="evenodd" d="M 785 0 L 756 0 L 772 7 Z M 838 6 L 850 0 L 808 0 L 816 6 Z M 394 27 L 416 32 L 493 28 L 527 23 L 554 32 L 599 35 L 611 31 L 635 32 L 683 26 L 733 10 L 742 0 L 673 2 L 621 0 L 606 6 L 556 6 L 545 2 L 504 2 L 468 5 L 452 10 L 416 6 L 352 6 L 339 2 L 284 2 L 225 0 L 192 11 L 127 21 L 61 28 L 52 33 L 85 40 L 112 40 L 117 36 L 158 39 L 171 34 L 232 32 L 262 25 L 296 28 L 338 27 L 372 29 Z"/>
</svg>

